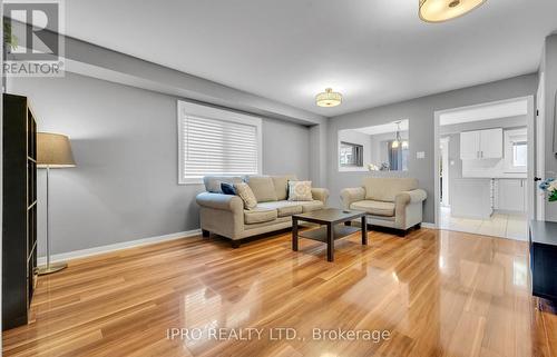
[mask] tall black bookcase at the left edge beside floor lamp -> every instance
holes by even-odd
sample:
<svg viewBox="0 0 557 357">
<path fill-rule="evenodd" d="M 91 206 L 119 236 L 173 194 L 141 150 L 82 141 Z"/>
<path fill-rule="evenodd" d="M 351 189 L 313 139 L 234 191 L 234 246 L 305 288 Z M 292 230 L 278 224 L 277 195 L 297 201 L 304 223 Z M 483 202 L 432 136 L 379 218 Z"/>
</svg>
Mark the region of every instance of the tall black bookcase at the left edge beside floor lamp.
<svg viewBox="0 0 557 357">
<path fill-rule="evenodd" d="M 37 281 L 37 122 L 26 97 L 3 95 L 2 328 L 28 323 Z"/>
</svg>

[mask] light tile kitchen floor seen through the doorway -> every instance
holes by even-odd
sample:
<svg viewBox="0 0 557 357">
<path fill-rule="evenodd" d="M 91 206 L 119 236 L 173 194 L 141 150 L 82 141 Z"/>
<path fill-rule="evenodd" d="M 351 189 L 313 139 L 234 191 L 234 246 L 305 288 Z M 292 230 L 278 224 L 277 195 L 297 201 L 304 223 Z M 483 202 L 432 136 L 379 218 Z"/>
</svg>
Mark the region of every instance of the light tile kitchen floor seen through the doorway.
<svg viewBox="0 0 557 357">
<path fill-rule="evenodd" d="M 451 217 L 450 207 L 441 207 L 439 221 L 441 229 L 528 240 L 528 221 L 526 215 L 496 212 L 489 219 L 457 218 Z"/>
</svg>

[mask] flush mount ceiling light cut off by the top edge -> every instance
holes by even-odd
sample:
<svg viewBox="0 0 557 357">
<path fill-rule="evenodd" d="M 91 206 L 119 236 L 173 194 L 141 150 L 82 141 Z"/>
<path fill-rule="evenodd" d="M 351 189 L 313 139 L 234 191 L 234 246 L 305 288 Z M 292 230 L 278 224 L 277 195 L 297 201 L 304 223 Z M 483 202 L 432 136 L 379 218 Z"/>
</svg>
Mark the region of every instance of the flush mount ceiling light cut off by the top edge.
<svg viewBox="0 0 557 357">
<path fill-rule="evenodd" d="M 426 22 L 443 22 L 461 17 L 487 0 L 420 0 L 420 19 Z"/>
</svg>

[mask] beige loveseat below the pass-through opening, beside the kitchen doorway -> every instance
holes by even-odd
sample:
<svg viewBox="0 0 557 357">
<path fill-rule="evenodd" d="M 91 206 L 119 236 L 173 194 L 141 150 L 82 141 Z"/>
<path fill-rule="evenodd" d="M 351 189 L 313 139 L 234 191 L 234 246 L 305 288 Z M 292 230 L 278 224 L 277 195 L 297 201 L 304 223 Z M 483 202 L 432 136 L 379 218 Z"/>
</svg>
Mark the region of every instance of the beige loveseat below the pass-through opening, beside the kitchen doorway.
<svg viewBox="0 0 557 357">
<path fill-rule="evenodd" d="M 411 227 L 422 222 L 424 190 L 413 178 L 373 178 L 363 180 L 361 187 L 341 191 L 344 209 L 368 212 L 368 224 L 399 230 L 404 236 Z"/>
</svg>

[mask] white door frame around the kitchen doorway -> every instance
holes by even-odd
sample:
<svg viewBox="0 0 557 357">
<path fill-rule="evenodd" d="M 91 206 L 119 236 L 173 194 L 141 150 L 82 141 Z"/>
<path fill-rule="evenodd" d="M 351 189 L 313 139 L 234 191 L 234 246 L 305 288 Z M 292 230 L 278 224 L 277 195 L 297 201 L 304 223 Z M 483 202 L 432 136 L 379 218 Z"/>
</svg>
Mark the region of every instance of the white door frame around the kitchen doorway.
<svg viewBox="0 0 557 357">
<path fill-rule="evenodd" d="M 478 108 L 478 107 L 485 107 L 489 105 L 497 105 L 497 103 L 502 103 L 502 102 L 508 102 L 508 101 L 515 101 L 519 99 L 526 99 L 527 101 L 527 127 L 528 127 L 528 140 L 535 139 L 536 137 L 536 112 L 534 110 L 534 96 L 526 96 L 526 97 L 517 97 L 517 98 L 509 98 L 509 99 L 504 99 L 504 100 L 496 100 L 496 101 L 488 101 L 488 102 L 482 102 L 473 106 L 465 106 L 465 107 L 456 107 L 456 108 L 450 108 L 450 109 L 443 109 L 443 110 L 436 110 L 433 112 L 433 145 L 436 147 L 436 150 L 433 151 L 433 181 L 434 181 L 434 205 L 436 205 L 436 227 L 439 227 L 439 215 L 440 215 L 440 209 L 441 209 L 441 204 L 439 200 L 439 145 L 440 145 L 440 133 L 439 133 L 439 127 L 440 127 L 440 117 L 442 113 L 446 112 L 451 112 L 456 110 L 463 110 L 463 109 L 471 109 L 471 108 Z M 528 141 L 528 175 L 527 175 L 527 181 L 528 186 L 530 189 L 528 189 L 528 217 L 535 217 L 536 214 L 536 205 L 532 205 L 535 201 L 536 197 L 536 186 L 532 185 L 534 182 L 534 173 L 536 172 L 536 155 L 535 150 L 531 150 L 530 148 L 534 148 L 531 142 L 536 142 L 536 140 Z"/>
</svg>

